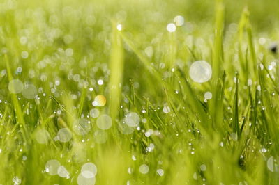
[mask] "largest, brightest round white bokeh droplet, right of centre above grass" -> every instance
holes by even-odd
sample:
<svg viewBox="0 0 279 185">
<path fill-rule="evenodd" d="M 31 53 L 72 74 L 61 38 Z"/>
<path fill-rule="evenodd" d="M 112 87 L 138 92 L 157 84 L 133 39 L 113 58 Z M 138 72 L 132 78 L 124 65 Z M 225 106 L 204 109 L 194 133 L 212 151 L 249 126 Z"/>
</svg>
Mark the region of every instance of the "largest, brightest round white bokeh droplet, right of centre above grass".
<svg viewBox="0 0 279 185">
<path fill-rule="evenodd" d="M 197 83 L 204 83 L 211 79 L 211 65 L 206 61 L 196 61 L 190 66 L 190 78 Z"/>
</svg>

